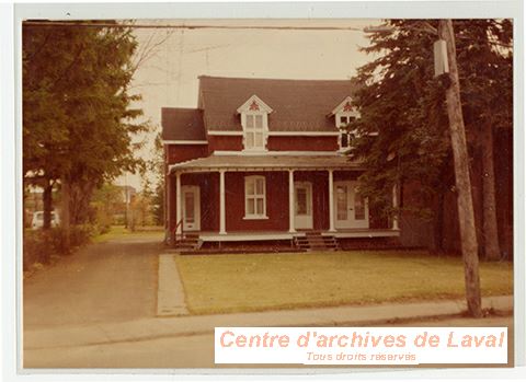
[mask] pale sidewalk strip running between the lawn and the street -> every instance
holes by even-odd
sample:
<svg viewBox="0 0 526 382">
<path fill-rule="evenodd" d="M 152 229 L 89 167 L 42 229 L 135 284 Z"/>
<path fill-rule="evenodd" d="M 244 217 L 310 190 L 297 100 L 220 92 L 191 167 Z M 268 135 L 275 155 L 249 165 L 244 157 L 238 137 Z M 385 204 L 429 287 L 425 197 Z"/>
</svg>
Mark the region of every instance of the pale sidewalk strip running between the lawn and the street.
<svg viewBox="0 0 526 382">
<path fill-rule="evenodd" d="M 513 309 L 513 297 L 483 298 L 482 306 L 510 311 Z M 209 334 L 214 333 L 216 326 L 366 326 L 392 320 L 454 315 L 465 311 L 466 301 L 458 300 L 141 319 L 123 323 L 26 331 L 23 340 L 24 349 L 32 350 Z"/>
</svg>

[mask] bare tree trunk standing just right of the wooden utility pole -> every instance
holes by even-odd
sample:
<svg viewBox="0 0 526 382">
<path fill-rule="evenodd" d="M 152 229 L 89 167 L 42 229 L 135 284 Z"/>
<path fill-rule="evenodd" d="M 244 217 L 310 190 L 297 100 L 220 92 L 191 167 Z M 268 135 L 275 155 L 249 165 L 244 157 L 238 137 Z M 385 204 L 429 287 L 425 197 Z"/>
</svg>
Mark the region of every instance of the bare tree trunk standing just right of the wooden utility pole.
<svg viewBox="0 0 526 382">
<path fill-rule="evenodd" d="M 493 127 L 482 129 L 482 210 L 484 256 L 489 261 L 499 261 L 499 228 L 496 223 L 495 166 L 493 159 Z"/>
</svg>

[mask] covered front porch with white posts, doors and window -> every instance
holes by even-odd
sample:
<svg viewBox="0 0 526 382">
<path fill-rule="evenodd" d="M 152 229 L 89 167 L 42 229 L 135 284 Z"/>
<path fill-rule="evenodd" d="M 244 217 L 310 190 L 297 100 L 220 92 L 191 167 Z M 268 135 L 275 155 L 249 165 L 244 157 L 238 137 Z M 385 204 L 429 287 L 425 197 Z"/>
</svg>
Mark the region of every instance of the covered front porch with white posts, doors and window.
<svg viewBox="0 0 526 382">
<path fill-rule="evenodd" d="M 358 193 L 359 164 L 343 155 L 211 155 L 171 165 L 167 236 L 206 242 L 393 238 L 398 219 L 380 219 Z M 397 190 L 392 202 L 398 205 Z"/>
</svg>

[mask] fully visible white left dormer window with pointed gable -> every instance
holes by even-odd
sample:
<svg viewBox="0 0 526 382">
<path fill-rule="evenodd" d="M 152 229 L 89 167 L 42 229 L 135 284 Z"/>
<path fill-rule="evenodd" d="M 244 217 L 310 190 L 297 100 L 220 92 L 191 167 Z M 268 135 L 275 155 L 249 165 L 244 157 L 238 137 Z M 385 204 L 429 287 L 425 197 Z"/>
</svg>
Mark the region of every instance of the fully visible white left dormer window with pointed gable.
<svg viewBox="0 0 526 382">
<path fill-rule="evenodd" d="M 243 147 L 247 151 L 266 151 L 268 136 L 268 107 L 256 95 L 252 95 L 238 108 L 243 128 Z"/>
</svg>

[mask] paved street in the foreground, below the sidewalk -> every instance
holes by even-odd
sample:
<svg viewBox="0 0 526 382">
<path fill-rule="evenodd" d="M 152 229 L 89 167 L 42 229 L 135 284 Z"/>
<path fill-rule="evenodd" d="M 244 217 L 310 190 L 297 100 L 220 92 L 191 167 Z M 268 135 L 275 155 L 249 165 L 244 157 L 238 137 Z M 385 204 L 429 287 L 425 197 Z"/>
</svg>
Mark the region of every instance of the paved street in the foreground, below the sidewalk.
<svg viewBox="0 0 526 382">
<path fill-rule="evenodd" d="M 384 326 L 384 325 L 382 325 Z M 389 326 L 508 326 L 513 338 L 513 317 L 482 320 L 449 319 L 409 322 Z M 512 342 L 508 357 L 513 359 Z M 214 335 L 188 335 L 107 345 L 26 350 L 26 368 L 265 368 L 265 366 L 216 366 Z M 270 366 L 268 366 L 270 367 Z M 299 366 L 279 366 L 279 368 Z"/>
</svg>

